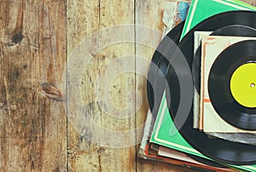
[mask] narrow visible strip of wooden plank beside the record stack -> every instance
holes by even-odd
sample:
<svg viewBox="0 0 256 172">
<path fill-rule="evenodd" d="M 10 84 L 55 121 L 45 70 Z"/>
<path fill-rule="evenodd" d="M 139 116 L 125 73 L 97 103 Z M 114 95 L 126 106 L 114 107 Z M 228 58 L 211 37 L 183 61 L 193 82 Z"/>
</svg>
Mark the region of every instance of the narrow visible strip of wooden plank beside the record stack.
<svg viewBox="0 0 256 172">
<path fill-rule="evenodd" d="M 156 32 L 162 32 L 163 25 L 161 25 L 161 8 L 160 8 L 160 1 L 136 1 L 136 25 L 141 25 L 145 27 L 150 27 Z M 145 29 L 146 30 L 146 29 Z M 142 34 L 143 30 L 140 31 L 138 29 L 137 31 L 137 42 L 139 40 L 143 40 L 144 35 Z M 158 40 L 157 40 L 158 39 Z M 148 39 L 148 44 L 154 44 L 154 43 L 160 43 L 160 37 L 152 35 Z M 150 60 L 152 58 L 152 55 L 154 54 L 154 49 L 148 47 L 147 45 L 142 45 L 139 43 L 136 43 L 136 55 L 138 57 L 143 57 L 147 64 L 144 66 L 144 70 L 147 73 L 148 66 L 150 63 Z M 139 68 L 142 67 L 142 65 L 138 65 L 136 70 L 138 71 Z M 138 92 L 143 95 L 143 99 L 141 100 L 140 97 L 137 97 L 136 101 L 141 102 L 141 106 L 136 107 L 137 111 L 137 128 L 143 123 L 145 123 L 145 117 L 148 112 L 148 98 L 147 98 L 147 82 L 146 82 L 147 76 L 136 76 L 136 85 Z M 146 106 L 145 106 L 146 105 Z M 137 135 L 141 135 L 139 133 L 141 131 L 137 131 Z M 138 139 L 138 144 L 141 139 Z M 139 146 L 139 145 L 138 145 Z M 138 149 L 138 147 L 137 147 Z M 144 160 L 141 158 L 137 158 L 137 171 L 159 171 L 160 168 L 158 167 L 159 162 L 153 162 Z M 162 169 L 165 169 L 167 167 L 166 163 L 162 164 Z"/>
</svg>

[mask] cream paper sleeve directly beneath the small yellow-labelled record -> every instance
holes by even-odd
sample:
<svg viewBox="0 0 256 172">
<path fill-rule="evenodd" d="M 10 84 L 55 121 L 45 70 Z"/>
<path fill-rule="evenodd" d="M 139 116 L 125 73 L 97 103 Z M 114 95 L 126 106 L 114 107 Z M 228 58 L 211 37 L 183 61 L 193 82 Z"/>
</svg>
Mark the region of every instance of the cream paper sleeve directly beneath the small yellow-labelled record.
<svg viewBox="0 0 256 172">
<path fill-rule="evenodd" d="M 230 45 L 244 40 L 256 40 L 256 37 L 221 37 L 209 36 L 202 38 L 201 57 L 201 117 L 203 117 L 203 131 L 215 133 L 251 133 L 256 134 L 256 130 L 239 129 L 226 123 L 212 106 L 212 101 L 208 92 L 208 78 L 214 61 L 224 49 Z M 230 56 L 232 58 L 232 56 Z M 221 68 L 221 66 L 219 66 Z M 224 77 L 224 76 L 223 76 Z M 215 93 L 220 95 L 218 91 Z"/>
</svg>

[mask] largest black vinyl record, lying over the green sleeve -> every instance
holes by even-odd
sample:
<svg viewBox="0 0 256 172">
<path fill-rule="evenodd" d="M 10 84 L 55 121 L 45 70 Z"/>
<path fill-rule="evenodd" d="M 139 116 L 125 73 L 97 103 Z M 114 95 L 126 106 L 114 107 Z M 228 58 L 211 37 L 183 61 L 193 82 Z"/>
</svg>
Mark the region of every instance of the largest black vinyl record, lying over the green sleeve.
<svg viewBox="0 0 256 172">
<path fill-rule="evenodd" d="M 189 70 L 192 67 L 194 56 L 194 32 L 195 31 L 216 31 L 225 26 L 249 26 L 256 28 L 256 13 L 252 11 L 231 11 L 222 14 L 214 15 L 207 20 L 202 21 L 195 26 L 189 33 L 183 37 L 181 43 L 178 44 L 183 54 L 166 54 L 169 59 L 181 59 L 183 56 L 189 65 Z M 183 56 L 182 56 L 183 55 Z M 173 65 L 173 64 L 172 64 Z M 177 65 L 177 64 L 176 64 Z M 176 66 L 177 67 L 177 66 Z M 193 91 L 193 84 L 177 88 L 179 83 L 185 81 L 193 81 L 191 72 L 182 68 L 174 70 L 170 67 L 166 76 L 170 89 L 166 88 L 166 100 L 171 114 L 172 120 L 179 129 L 183 138 L 189 142 L 196 150 L 221 163 L 230 164 L 255 164 L 256 163 L 256 146 L 249 146 L 241 143 L 230 142 L 221 139 L 209 139 L 206 134 L 198 129 L 193 129 L 193 97 L 190 97 L 188 92 L 185 92 L 183 87 Z M 184 72 L 185 71 L 185 72 Z M 179 76 L 179 77 L 177 77 Z M 182 77 L 180 77 L 182 76 Z M 189 82 L 187 82 L 189 83 Z M 174 85 L 174 87 L 173 87 Z M 183 100 L 189 100 L 189 105 L 183 104 Z M 178 103 L 173 103 L 178 102 Z M 189 114 L 177 116 L 177 112 L 189 106 Z M 188 115 L 188 117 L 187 117 Z M 186 118 L 184 123 L 179 123 L 176 118 Z M 184 120 L 184 119 L 183 119 Z M 183 121 L 182 121 L 183 122 Z"/>
</svg>

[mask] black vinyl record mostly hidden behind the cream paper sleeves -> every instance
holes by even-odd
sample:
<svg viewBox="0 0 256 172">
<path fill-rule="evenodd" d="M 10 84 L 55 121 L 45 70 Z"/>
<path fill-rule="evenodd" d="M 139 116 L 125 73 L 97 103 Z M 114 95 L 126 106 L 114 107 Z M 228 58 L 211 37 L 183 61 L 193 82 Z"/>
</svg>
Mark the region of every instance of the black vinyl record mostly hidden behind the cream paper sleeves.
<svg viewBox="0 0 256 172">
<path fill-rule="evenodd" d="M 256 37 L 256 29 L 249 26 L 225 26 L 210 34 L 211 36 L 230 36 L 230 37 Z M 201 88 L 201 45 L 196 49 L 192 63 L 192 76 L 195 89 L 200 93 Z"/>
</svg>

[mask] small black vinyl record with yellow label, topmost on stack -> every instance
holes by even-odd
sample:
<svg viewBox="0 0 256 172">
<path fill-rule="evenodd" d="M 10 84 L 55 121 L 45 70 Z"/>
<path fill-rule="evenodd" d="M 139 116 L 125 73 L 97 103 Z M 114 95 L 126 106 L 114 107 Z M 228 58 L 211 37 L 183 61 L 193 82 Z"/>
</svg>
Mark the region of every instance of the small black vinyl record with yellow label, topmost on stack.
<svg viewBox="0 0 256 172">
<path fill-rule="evenodd" d="M 218 55 L 208 77 L 212 106 L 225 122 L 256 130 L 256 41 L 232 44 Z"/>
</svg>

